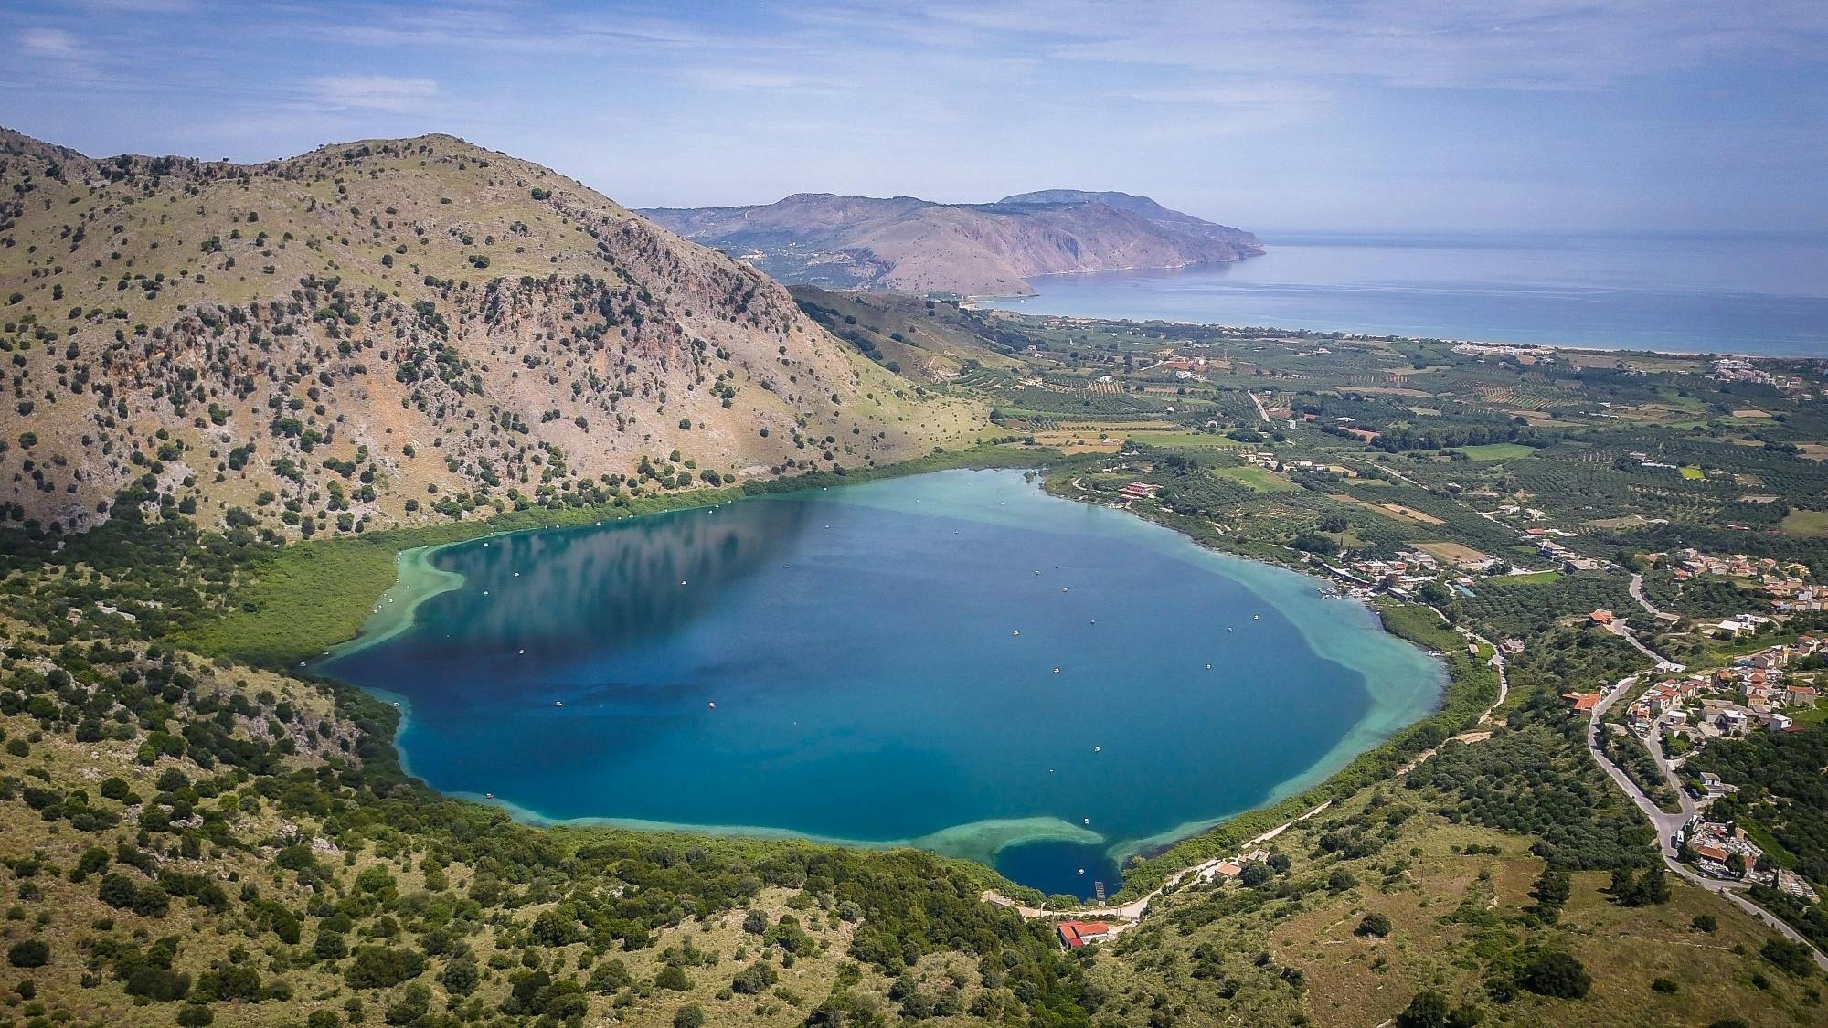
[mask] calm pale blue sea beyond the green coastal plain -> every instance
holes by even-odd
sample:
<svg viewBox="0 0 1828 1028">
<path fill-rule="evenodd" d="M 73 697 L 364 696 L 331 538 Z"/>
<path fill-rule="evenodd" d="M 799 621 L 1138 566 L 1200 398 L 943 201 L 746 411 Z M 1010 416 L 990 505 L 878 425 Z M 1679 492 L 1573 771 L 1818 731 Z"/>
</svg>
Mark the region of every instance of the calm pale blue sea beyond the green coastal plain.
<svg viewBox="0 0 1828 1028">
<path fill-rule="evenodd" d="M 1011 311 L 1828 357 L 1824 236 L 1265 234 L 1186 271 L 1033 278 Z"/>
</svg>

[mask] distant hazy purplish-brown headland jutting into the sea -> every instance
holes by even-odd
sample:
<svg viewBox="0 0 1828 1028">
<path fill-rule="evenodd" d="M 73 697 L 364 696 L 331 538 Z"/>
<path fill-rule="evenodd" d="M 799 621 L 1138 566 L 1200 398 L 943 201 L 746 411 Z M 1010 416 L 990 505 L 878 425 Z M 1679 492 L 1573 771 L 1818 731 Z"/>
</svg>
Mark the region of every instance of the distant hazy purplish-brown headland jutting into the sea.
<svg viewBox="0 0 1828 1028">
<path fill-rule="evenodd" d="M 996 203 L 795 194 L 760 207 L 642 210 L 792 284 L 1024 296 L 1031 274 L 1185 267 L 1261 254 L 1250 232 L 1126 192 L 1044 190 Z"/>
</svg>

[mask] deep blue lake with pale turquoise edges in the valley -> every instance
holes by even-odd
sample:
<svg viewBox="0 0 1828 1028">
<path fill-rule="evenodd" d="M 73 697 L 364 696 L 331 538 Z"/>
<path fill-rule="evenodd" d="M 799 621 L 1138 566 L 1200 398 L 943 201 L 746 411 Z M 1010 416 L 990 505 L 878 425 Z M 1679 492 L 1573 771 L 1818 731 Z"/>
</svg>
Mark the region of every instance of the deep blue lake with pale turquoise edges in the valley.
<svg viewBox="0 0 1828 1028">
<path fill-rule="evenodd" d="M 1049 893 L 1115 891 L 1130 852 L 1325 777 L 1444 680 L 1316 580 L 1009 470 L 430 563 L 461 585 L 322 666 L 406 708 L 430 785 L 534 821 L 912 843 Z"/>
</svg>

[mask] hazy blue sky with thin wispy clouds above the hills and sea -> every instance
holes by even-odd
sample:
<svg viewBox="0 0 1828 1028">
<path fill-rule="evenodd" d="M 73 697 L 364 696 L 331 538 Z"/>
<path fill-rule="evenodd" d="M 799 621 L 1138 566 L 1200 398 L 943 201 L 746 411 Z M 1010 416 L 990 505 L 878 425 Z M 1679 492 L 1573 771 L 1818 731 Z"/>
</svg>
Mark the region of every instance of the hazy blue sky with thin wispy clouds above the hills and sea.
<svg viewBox="0 0 1828 1028">
<path fill-rule="evenodd" d="M 0 126 L 90 155 L 446 132 L 631 207 L 1828 230 L 1821 0 L 0 0 Z"/>
</svg>

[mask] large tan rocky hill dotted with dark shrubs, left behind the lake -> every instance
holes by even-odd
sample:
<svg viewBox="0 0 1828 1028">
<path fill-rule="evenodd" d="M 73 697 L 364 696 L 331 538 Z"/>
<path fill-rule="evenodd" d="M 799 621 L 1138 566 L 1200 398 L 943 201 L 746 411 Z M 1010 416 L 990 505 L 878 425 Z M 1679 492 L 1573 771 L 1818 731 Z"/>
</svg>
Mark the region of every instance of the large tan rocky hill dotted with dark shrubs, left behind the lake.
<svg viewBox="0 0 1828 1028">
<path fill-rule="evenodd" d="M 779 284 L 448 135 L 232 165 L 0 130 L 7 519 L 280 534 L 929 450 L 916 395 Z"/>
</svg>

